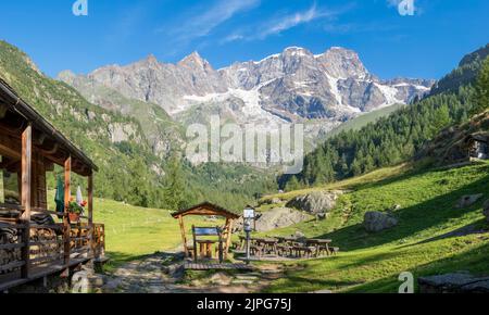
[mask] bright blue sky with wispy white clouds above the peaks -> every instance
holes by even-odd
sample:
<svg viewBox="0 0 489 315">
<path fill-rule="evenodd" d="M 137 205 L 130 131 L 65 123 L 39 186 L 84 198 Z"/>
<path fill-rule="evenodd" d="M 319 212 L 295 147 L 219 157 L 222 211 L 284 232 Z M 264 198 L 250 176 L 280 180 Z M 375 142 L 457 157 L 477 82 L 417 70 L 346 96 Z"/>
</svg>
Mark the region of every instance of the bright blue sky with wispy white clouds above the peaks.
<svg viewBox="0 0 489 315">
<path fill-rule="evenodd" d="M 289 46 L 359 52 L 381 78 L 439 78 L 489 42 L 489 1 L 414 0 L 2 0 L 0 38 L 26 51 L 50 76 L 88 73 L 154 54 L 177 62 L 197 50 L 216 68 L 261 60 Z"/>
</svg>

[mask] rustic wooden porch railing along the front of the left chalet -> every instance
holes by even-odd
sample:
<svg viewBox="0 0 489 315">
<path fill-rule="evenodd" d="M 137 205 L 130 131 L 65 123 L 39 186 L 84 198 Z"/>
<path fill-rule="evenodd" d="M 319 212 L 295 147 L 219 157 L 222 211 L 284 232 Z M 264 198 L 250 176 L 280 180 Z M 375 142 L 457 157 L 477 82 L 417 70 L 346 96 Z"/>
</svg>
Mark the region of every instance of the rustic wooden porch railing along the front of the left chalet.
<svg viewBox="0 0 489 315">
<path fill-rule="evenodd" d="M 38 209 L 33 213 L 65 215 Z M 63 223 L 39 225 L 34 220 L 0 217 L 0 290 L 67 270 L 90 260 L 102 260 L 105 227 L 86 222 L 90 220 L 88 217 L 83 220 L 70 224 L 63 219 Z"/>
</svg>

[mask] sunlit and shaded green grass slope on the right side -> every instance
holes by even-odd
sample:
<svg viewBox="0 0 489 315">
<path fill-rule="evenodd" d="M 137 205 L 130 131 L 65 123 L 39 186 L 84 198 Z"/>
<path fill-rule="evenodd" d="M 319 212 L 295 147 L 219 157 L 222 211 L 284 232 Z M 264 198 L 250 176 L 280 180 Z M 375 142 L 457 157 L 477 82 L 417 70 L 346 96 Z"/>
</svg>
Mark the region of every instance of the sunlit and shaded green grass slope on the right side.
<svg viewBox="0 0 489 315">
<path fill-rule="evenodd" d="M 354 190 L 341 198 L 327 220 L 276 230 L 273 235 L 302 231 L 308 237 L 330 238 L 342 252 L 292 264 L 286 277 L 266 291 L 397 292 L 402 272 L 415 276 L 454 270 L 489 275 L 489 234 L 443 237 L 457 229 L 489 229 L 481 211 L 489 199 L 489 164 L 449 171 L 385 171 L 389 176 L 384 180 L 354 180 L 350 186 Z M 462 196 L 473 193 L 485 198 L 467 209 L 454 206 Z M 397 227 L 378 234 L 363 229 L 365 212 L 397 204 L 401 205 L 393 212 L 399 218 Z"/>
</svg>

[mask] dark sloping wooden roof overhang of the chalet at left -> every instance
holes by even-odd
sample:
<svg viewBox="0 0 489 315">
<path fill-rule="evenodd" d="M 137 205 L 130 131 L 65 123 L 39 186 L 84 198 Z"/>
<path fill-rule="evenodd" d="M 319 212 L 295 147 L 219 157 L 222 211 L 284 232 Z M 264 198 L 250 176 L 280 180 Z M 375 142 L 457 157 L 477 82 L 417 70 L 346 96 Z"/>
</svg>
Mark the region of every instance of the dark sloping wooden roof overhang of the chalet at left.
<svg viewBox="0 0 489 315">
<path fill-rule="evenodd" d="M 46 158 L 57 164 L 72 156 L 73 171 L 80 175 L 90 175 L 98 171 L 97 165 L 51 123 L 42 117 L 32 105 L 27 104 L 17 93 L 0 78 L 0 123 L 2 130 L 11 136 L 20 136 L 27 123 L 33 126 L 35 146 Z M 18 134 L 18 135 L 16 135 Z"/>
</svg>

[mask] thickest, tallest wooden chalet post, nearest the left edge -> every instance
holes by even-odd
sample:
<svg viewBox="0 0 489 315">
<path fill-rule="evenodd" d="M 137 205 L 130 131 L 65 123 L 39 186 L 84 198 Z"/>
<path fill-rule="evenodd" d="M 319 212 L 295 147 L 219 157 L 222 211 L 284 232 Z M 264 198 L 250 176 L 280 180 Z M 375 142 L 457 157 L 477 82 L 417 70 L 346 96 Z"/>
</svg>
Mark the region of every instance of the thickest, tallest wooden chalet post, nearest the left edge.
<svg viewBox="0 0 489 315">
<path fill-rule="evenodd" d="M 22 242 L 22 260 L 24 265 L 22 266 L 21 274 L 23 278 L 29 277 L 30 269 L 30 190 L 32 190 L 32 177 L 33 177 L 33 127 L 30 124 L 22 133 L 22 205 L 24 213 L 22 214 L 22 222 L 24 224 Z"/>
</svg>

